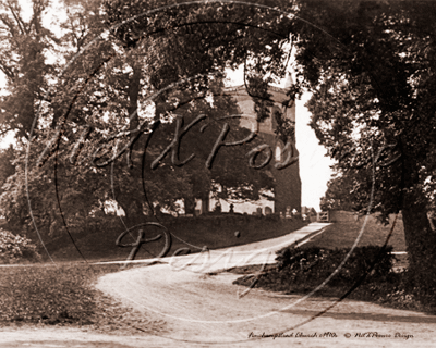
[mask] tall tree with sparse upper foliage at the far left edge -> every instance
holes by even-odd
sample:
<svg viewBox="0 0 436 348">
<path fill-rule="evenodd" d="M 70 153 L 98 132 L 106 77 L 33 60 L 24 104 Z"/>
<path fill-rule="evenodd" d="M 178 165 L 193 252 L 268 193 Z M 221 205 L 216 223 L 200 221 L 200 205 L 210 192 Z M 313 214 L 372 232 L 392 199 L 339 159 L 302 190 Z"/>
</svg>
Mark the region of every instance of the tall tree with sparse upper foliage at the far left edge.
<svg viewBox="0 0 436 348">
<path fill-rule="evenodd" d="M 33 0 L 31 16 L 25 20 L 16 0 L 0 4 L 0 70 L 7 77 L 5 94 L 0 97 L 0 134 L 14 132 L 17 141 L 14 149 L 9 148 L 2 153 L 2 197 L 9 196 L 9 203 L 14 206 L 7 204 L 2 210 L 13 225 L 24 224 L 24 216 L 27 215 L 27 209 L 16 209 L 25 207 L 22 204 L 25 187 L 11 186 L 19 175 L 14 166 L 19 165 L 23 145 L 29 139 L 38 107 L 45 101 L 48 80 L 55 73 L 53 64 L 46 62 L 45 55 L 53 52 L 58 42 L 56 36 L 43 25 L 47 7 L 46 0 Z M 15 160 L 14 164 L 11 157 Z M 22 197 L 16 197 L 19 191 Z M 12 197 L 16 198 L 14 203 Z"/>
</svg>

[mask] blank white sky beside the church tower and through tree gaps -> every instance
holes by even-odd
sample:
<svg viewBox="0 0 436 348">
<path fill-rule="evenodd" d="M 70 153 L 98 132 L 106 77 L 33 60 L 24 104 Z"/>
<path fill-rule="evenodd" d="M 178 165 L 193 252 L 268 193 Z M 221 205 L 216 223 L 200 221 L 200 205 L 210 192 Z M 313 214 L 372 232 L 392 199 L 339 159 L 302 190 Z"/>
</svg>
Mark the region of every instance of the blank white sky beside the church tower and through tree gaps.
<svg viewBox="0 0 436 348">
<path fill-rule="evenodd" d="M 25 9 L 27 0 L 20 0 Z M 53 1 L 59 7 L 58 1 Z M 59 8 L 58 8 L 59 10 Z M 55 11 L 56 12 L 56 11 Z M 53 25 L 56 17 L 61 16 L 60 12 L 57 15 L 49 14 L 47 22 Z M 46 22 L 46 24 L 48 24 Z M 56 25 L 56 24 L 55 24 Z M 230 73 L 229 84 L 242 85 L 243 77 L 242 71 Z M 0 72 L 0 94 L 1 88 L 4 87 L 4 75 Z M 311 113 L 304 107 L 310 99 L 310 95 L 303 95 L 301 100 L 295 101 L 296 120 L 296 148 L 300 152 L 300 177 L 302 181 L 302 206 L 313 207 L 319 211 L 319 199 L 324 196 L 327 189 L 327 182 L 331 177 L 332 171 L 330 165 L 334 164 L 332 160 L 325 156 L 326 150 L 318 144 L 314 130 L 308 126 L 311 121 Z M 8 147 L 13 141 L 13 134 L 8 134 L 3 139 L 0 139 L 0 148 Z"/>
</svg>

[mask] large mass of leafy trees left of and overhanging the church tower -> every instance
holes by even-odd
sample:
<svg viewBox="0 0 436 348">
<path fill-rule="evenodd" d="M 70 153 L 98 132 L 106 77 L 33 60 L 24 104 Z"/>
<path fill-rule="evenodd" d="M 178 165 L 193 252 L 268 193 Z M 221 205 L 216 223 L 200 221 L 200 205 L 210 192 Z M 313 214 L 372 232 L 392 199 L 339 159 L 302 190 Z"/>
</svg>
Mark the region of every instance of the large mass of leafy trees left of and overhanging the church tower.
<svg viewBox="0 0 436 348">
<path fill-rule="evenodd" d="M 33 3 L 47 5 L 39 0 Z M 178 199 L 192 201 L 209 191 L 225 198 L 256 199 L 271 187 L 266 173 L 246 165 L 245 153 L 258 140 L 223 146 L 213 165 L 205 163 L 226 123 L 231 127 L 226 141 L 241 141 L 250 133 L 239 127 L 239 120 L 222 119 L 222 112 L 235 113 L 234 101 L 223 95 L 223 69 L 245 64 L 246 86 L 261 100 L 262 117 L 268 102 L 265 86 L 284 74 L 288 18 L 276 21 L 276 12 L 256 7 L 246 12 L 240 5 L 191 4 L 182 11 L 167 8 L 120 26 L 120 21 L 157 3 L 116 1 L 101 7 L 98 0 L 65 0 L 64 4 L 70 16 L 62 23 L 61 38 L 40 29 L 43 10 L 35 8 L 39 11 L 34 13 L 34 22 L 39 21 L 35 27 L 44 34 L 37 36 L 37 42 L 49 42 L 38 46 L 38 54 L 28 60 L 35 69 L 27 80 L 35 78 L 35 90 L 21 95 L 11 75 L 8 98 L 1 101 L 2 110 L 11 110 L 11 115 L 17 113 L 15 119 L 22 120 L 14 124 L 22 141 L 15 154 L 15 174 L 1 196 L 9 221 L 26 226 L 34 220 L 39 232 L 56 236 L 64 229 L 62 224 L 89 216 L 110 198 L 123 208 L 129 224 L 135 224 L 144 217 L 147 202 L 175 209 Z M 4 21 L 17 21 L 20 8 L 14 5 L 16 10 Z M 271 20 L 270 24 L 266 20 Z M 113 29 L 98 36 L 107 25 Z M 23 33 L 23 41 L 36 37 Z M 13 40 L 13 35 L 8 39 Z M 8 64 L 21 49 L 12 48 Z M 68 64 L 47 64 L 47 51 Z M 27 66 L 24 59 L 20 62 Z M 276 73 L 261 78 L 266 63 Z M 5 71 L 8 64 L 3 64 Z M 175 88 L 168 88 L 171 84 Z M 16 109 L 23 96 L 32 104 L 26 109 L 31 113 Z M 153 114 L 147 108 L 154 109 Z M 207 122 L 195 124 L 180 144 L 180 159 L 193 152 L 196 157 L 180 165 L 170 151 L 150 171 L 173 141 L 177 115 L 183 115 L 189 124 L 202 113 L 208 115 Z"/>
</svg>

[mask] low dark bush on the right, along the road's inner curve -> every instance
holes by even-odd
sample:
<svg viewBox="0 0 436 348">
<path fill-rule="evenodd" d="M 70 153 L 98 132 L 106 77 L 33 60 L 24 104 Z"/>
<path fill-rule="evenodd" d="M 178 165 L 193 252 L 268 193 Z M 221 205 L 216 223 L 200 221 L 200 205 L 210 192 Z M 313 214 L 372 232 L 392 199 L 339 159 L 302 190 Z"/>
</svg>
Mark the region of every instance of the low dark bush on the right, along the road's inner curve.
<svg viewBox="0 0 436 348">
<path fill-rule="evenodd" d="M 276 266 L 256 276 L 255 282 L 254 275 L 249 274 L 233 283 L 287 294 L 307 294 L 338 269 L 349 251 L 350 248 L 284 248 L 278 252 Z M 420 285 L 413 282 L 410 271 L 392 272 L 395 258 L 390 251 L 391 248 L 382 247 L 355 248 L 341 270 L 316 295 L 342 297 L 347 294 L 349 298 L 356 300 L 435 314 L 434 295 L 423 297 Z M 253 273 L 252 270 L 247 271 Z M 364 281 L 360 282 L 363 276 Z"/>
</svg>

